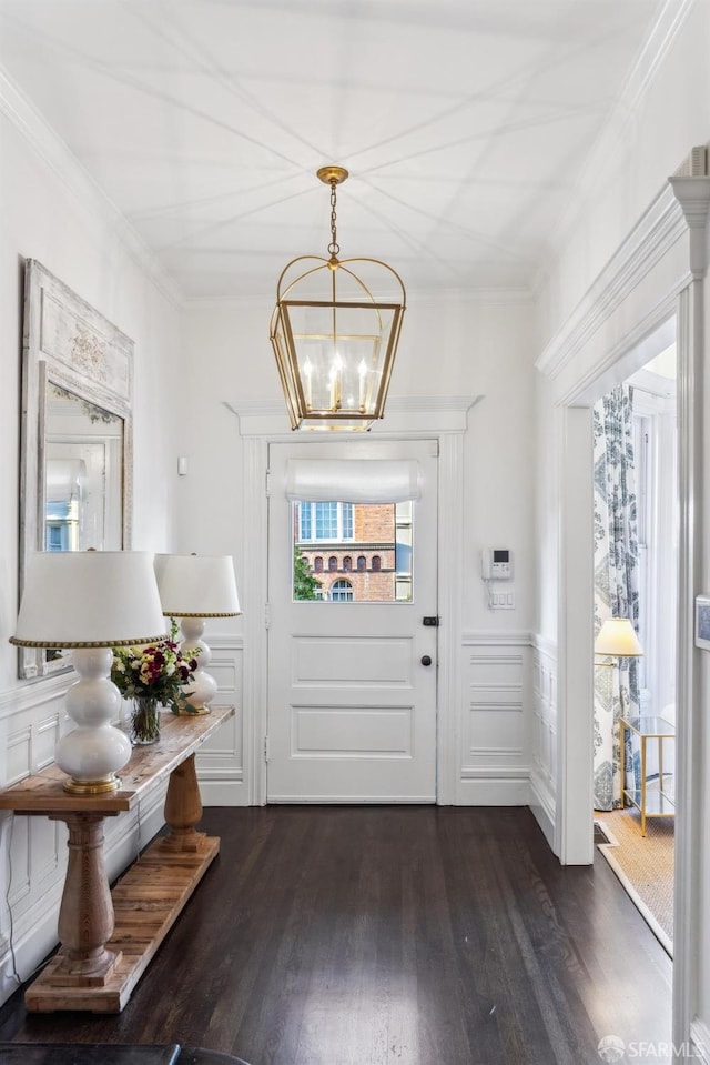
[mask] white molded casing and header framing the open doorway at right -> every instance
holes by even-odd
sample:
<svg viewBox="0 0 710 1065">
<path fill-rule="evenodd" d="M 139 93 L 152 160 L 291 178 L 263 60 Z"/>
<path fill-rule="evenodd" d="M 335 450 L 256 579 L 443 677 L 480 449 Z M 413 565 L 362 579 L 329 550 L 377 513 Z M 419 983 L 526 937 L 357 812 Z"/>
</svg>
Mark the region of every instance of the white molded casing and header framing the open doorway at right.
<svg viewBox="0 0 710 1065">
<path fill-rule="evenodd" d="M 669 179 L 537 362 L 554 382 L 558 416 L 556 850 L 562 863 L 576 864 L 592 857 L 591 405 L 648 361 L 646 348 L 655 331 L 671 320 L 676 323 L 679 601 L 672 1035 L 676 1046 L 693 1053 L 710 1045 L 710 903 L 704 897 L 710 838 L 701 822 L 710 765 L 706 723 L 710 657 L 694 646 L 696 596 L 710 589 L 710 492 L 703 491 L 702 476 L 710 470 L 710 433 L 704 428 L 704 412 L 710 410 L 710 308 L 704 285 L 709 208 L 710 177 Z"/>
</svg>

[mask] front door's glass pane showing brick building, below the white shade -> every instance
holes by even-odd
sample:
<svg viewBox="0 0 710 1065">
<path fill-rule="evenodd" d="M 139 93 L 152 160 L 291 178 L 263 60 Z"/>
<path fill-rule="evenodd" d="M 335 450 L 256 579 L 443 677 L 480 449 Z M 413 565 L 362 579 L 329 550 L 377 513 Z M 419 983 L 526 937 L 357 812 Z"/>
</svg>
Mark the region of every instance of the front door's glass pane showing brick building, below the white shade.
<svg viewBox="0 0 710 1065">
<path fill-rule="evenodd" d="M 410 502 L 294 506 L 294 600 L 412 602 Z"/>
</svg>

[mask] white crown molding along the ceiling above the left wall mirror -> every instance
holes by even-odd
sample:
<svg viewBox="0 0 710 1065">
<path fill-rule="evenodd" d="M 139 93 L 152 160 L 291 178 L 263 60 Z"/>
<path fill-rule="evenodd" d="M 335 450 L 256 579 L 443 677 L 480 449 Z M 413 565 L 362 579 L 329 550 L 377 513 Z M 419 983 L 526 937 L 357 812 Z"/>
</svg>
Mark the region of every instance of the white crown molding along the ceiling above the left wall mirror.
<svg viewBox="0 0 710 1065">
<path fill-rule="evenodd" d="M 176 282 L 165 273 L 160 260 L 148 248 L 115 203 L 82 167 L 69 145 L 47 122 L 34 104 L 0 67 L 0 113 L 24 138 L 30 148 L 73 197 L 78 209 L 95 224 L 99 221 L 125 248 L 133 262 L 174 307 L 184 302 Z"/>
</svg>

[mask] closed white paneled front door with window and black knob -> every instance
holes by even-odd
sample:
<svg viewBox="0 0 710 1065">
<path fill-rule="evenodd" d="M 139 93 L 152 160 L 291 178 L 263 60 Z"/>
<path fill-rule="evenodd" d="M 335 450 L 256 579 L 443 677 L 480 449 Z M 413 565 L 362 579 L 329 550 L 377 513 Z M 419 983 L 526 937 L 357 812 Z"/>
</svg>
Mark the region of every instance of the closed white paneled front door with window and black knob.
<svg viewBox="0 0 710 1065">
<path fill-rule="evenodd" d="M 274 442 L 270 803 L 437 798 L 438 450 Z"/>
</svg>

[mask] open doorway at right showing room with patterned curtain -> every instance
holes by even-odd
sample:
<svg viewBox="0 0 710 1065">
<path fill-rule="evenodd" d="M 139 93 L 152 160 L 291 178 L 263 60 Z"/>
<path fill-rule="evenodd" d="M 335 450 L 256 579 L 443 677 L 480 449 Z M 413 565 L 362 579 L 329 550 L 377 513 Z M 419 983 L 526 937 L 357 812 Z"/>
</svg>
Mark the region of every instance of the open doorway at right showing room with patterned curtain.
<svg viewBox="0 0 710 1065">
<path fill-rule="evenodd" d="M 673 342 L 595 405 L 595 631 L 607 616 L 628 617 L 643 651 L 595 667 L 595 843 L 671 956 L 676 369 Z"/>
</svg>

